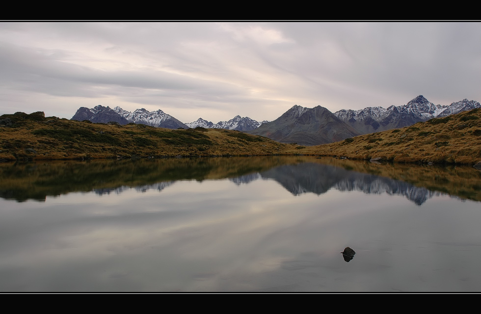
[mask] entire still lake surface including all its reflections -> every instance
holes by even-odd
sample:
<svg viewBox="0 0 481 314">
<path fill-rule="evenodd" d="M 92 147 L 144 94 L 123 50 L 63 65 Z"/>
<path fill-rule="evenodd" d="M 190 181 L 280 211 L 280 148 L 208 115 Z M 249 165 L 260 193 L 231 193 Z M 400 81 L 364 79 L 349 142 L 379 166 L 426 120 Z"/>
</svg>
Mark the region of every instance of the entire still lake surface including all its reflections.
<svg viewBox="0 0 481 314">
<path fill-rule="evenodd" d="M 0 291 L 479 292 L 480 201 L 474 167 L 2 163 Z"/>
</svg>

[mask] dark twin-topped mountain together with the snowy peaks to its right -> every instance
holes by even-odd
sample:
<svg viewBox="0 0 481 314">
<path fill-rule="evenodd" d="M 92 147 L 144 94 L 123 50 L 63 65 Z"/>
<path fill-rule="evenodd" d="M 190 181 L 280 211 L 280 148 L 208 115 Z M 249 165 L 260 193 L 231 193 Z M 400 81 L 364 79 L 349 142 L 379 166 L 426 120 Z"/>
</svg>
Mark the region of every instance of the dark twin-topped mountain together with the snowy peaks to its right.
<svg viewBox="0 0 481 314">
<path fill-rule="evenodd" d="M 249 131 L 281 143 L 313 146 L 344 140 L 349 137 L 399 129 L 474 108 L 479 102 L 464 99 L 451 105 L 434 105 L 423 95 L 406 105 L 367 107 L 361 110 L 330 112 L 324 107 L 305 108 L 294 105 L 276 120 Z"/>
</svg>

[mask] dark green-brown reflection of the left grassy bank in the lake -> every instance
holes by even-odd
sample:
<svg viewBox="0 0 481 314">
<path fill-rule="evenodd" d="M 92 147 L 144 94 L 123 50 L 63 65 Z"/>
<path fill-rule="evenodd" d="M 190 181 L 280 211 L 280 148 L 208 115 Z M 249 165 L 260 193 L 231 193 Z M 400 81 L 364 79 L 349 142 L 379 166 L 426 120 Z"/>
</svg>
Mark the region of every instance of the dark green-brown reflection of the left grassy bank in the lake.
<svg viewBox="0 0 481 314">
<path fill-rule="evenodd" d="M 0 163 L 0 196 L 24 201 L 48 195 L 166 181 L 234 178 L 298 162 L 296 157 L 217 157 Z"/>
</svg>

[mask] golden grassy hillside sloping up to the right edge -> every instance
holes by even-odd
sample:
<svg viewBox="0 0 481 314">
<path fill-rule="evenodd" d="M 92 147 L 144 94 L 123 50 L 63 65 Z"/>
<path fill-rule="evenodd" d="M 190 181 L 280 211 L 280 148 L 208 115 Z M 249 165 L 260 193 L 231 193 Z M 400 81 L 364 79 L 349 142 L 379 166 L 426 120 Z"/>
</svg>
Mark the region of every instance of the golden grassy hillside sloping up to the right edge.
<svg viewBox="0 0 481 314">
<path fill-rule="evenodd" d="M 481 109 L 309 147 L 309 154 L 395 162 L 475 164 L 481 160 Z"/>
</svg>

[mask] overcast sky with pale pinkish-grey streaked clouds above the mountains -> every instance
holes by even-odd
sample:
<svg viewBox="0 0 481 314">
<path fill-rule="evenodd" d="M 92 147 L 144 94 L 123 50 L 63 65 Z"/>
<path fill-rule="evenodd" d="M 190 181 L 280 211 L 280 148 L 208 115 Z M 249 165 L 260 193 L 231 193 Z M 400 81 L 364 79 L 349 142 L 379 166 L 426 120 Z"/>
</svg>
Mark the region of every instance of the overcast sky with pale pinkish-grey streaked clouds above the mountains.
<svg viewBox="0 0 481 314">
<path fill-rule="evenodd" d="M 481 22 L 0 22 L 0 115 L 162 110 L 184 123 L 481 101 Z"/>
</svg>

